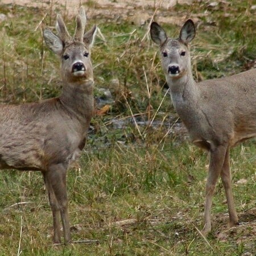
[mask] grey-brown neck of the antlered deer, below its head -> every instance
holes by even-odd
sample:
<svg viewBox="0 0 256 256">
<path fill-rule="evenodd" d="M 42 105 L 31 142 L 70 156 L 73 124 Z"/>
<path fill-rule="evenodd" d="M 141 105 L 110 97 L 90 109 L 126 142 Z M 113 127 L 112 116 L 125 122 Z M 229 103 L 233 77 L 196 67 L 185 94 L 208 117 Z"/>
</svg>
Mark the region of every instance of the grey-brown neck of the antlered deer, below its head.
<svg viewBox="0 0 256 256">
<path fill-rule="evenodd" d="M 65 82 L 60 101 L 81 123 L 88 123 L 93 114 L 93 80 Z"/>
</svg>

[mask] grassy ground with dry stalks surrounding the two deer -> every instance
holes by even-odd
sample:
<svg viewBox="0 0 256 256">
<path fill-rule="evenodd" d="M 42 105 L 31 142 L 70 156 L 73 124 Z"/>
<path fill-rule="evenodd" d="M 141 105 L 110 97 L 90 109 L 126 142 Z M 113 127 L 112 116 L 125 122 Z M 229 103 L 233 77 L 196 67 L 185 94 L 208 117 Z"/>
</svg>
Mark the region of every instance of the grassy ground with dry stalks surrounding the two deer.
<svg viewBox="0 0 256 256">
<path fill-rule="evenodd" d="M 84 6 L 89 12 L 100 8 L 96 1 Z M 73 31 L 66 7 L 56 11 Z M 88 27 L 100 28 L 92 50 L 97 115 L 80 161 L 68 172 L 68 195 L 73 240 L 97 242 L 52 246 L 42 175 L 2 170 L 0 255 L 255 255 L 255 139 L 231 155 L 241 225 L 226 227 L 228 209 L 218 183 L 213 230 L 204 240 L 198 230 L 208 156 L 189 142 L 166 95 L 158 48 L 148 36 L 155 9 L 144 11 L 150 18 L 139 24 L 133 15 L 110 19 L 104 12 L 91 12 L 88 20 Z M 192 68 L 196 80 L 205 80 L 255 67 L 255 11 L 253 1 L 193 1 L 159 8 L 154 19 L 176 17 L 162 23 L 174 37 L 186 18 L 195 20 Z M 58 96 L 59 60 L 42 39 L 42 27 L 55 25 L 55 10 L 50 4 L 0 5 L 0 13 L 6 15 L 0 23 L 0 102 Z"/>
</svg>

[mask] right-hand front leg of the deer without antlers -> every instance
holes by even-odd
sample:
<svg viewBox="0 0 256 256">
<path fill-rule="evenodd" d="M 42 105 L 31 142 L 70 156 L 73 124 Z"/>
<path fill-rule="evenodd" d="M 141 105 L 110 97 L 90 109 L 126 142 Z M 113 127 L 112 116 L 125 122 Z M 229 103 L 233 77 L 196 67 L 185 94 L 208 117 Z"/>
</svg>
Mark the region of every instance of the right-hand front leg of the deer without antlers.
<svg viewBox="0 0 256 256">
<path fill-rule="evenodd" d="M 223 168 L 221 170 L 221 180 L 225 188 L 226 201 L 228 203 L 229 227 L 232 227 L 234 225 L 238 225 L 238 217 L 237 217 L 236 208 L 234 207 L 234 199 L 233 199 L 233 193 L 232 193 L 232 180 L 231 180 L 231 173 L 229 168 L 229 148 L 226 151 Z"/>
</svg>

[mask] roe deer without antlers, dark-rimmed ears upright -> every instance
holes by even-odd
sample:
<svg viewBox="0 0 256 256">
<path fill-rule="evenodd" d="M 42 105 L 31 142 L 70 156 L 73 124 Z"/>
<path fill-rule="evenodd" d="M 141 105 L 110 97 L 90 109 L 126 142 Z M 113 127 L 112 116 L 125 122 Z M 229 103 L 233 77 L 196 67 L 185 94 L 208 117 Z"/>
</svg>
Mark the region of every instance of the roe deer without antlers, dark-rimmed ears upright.
<svg viewBox="0 0 256 256">
<path fill-rule="evenodd" d="M 178 39 L 168 38 L 156 22 L 152 22 L 150 34 L 160 46 L 162 67 L 177 114 L 187 127 L 192 142 L 210 152 L 202 231 L 206 236 L 211 230 L 210 209 L 219 176 L 225 188 L 229 226 L 238 224 L 229 150 L 256 136 L 256 69 L 231 77 L 195 82 L 188 49 L 188 43 L 195 37 L 192 20 L 185 22 Z"/>
</svg>

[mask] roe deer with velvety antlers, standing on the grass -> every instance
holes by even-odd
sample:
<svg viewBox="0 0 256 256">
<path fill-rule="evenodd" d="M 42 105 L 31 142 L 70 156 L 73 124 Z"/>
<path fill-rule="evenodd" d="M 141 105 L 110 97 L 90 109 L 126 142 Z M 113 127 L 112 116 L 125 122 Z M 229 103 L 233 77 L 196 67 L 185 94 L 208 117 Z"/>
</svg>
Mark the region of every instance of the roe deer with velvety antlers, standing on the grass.
<svg viewBox="0 0 256 256">
<path fill-rule="evenodd" d="M 44 177 L 53 216 L 53 242 L 71 242 L 66 174 L 85 145 L 93 114 L 93 68 L 90 61 L 97 27 L 84 34 L 86 15 L 80 8 L 72 38 L 60 15 L 57 35 L 46 28 L 47 46 L 61 57 L 63 93 L 59 98 L 24 105 L 0 106 L 0 168 L 38 170 Z"/>
</svg>

